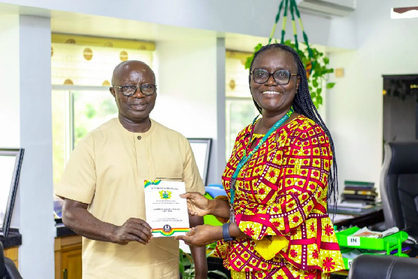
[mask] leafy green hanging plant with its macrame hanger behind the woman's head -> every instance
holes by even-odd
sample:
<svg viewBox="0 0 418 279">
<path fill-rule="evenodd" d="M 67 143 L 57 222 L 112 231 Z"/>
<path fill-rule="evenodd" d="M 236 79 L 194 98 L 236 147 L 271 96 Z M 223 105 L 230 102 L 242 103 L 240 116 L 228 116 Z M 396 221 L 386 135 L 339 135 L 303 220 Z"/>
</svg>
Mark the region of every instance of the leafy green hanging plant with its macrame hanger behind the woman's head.
<svg viewBox="0 0 418 279">
<path fill-rule="evenodd" d="M 289 5 L 290 4 L 290 5 Z M 320 52 L 313 48 L 308 43 L 307 34 L 304 32 L 302 20 L 300 19 L 300 13 L 297 9 L 295 0 L 281 0 L 279 5 L 279 12 L 276 15 L 276 20 L 273 25 L 272 33 L 270 34 L 270 38 L 268 43 L 270 44 L 272 38 L 274 36 L 274 32 L 276 31 L 276 26 L 280 19 L 280 13 L 284 6 L 284 17 L 283 17 L 283 24 L 281 29 L 281 43 L 292 47 L 293 50 L 297 52 L 302 63 L 304 65 L 305 70 L 307 71 L 307 79 L 309 83 L 309 91 L 311 92 L 312 102 L 318 109 L 320 105 L 323 104 L 323 86 L 325 85 L 327 89 L 332 89 L 334 87 L 334 82 L 327 82 L 328 75 L 330 73 L 334 73 L 334 69 L 330 68 L 330 59 Z M 290 8 L 289 8 L 290 6 Z M 291 40 L 284 40 L 284 34 L 286 33 L 286 17 L 288 10 L 291 11 L 292 17 L 292 24 L 293 24 L 293 35 L 295 37 L 295 43 L 292 43 Z M 296 31 L 296 24 L 295 24 L 295 15 L 299 19 L 300 28 L 302 29 L 303 37 L 304 37 L 304 50 L 300 50 L 299 43 L 297 42 L 297 31 Z M 275 43 L 277 43 L 277 39 L 274 39 Z M 258 43 L 254 47 L 254 53 L 261 49 L 263 45 Z M 251 61 L 254 59 L 254 53 L 252 56 L 247 58 L 245 61 L 245 68 L 249 69 L 251 65 Z"/>
</svg>

